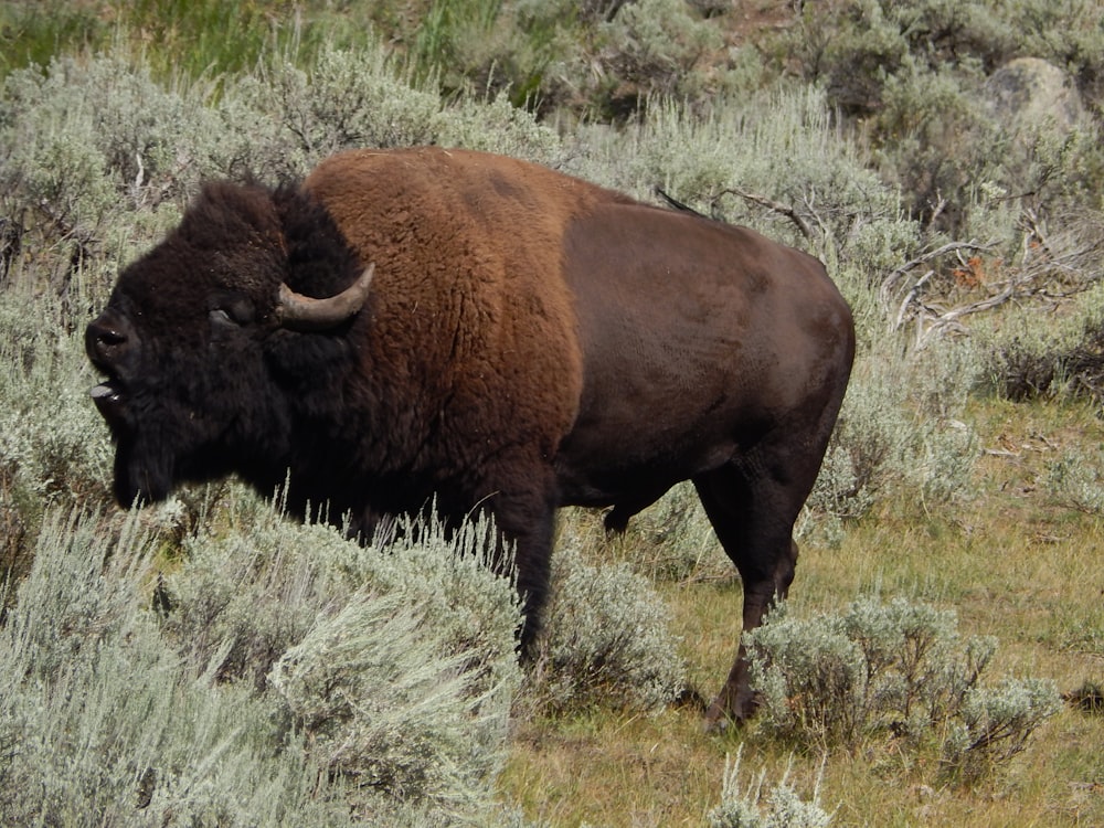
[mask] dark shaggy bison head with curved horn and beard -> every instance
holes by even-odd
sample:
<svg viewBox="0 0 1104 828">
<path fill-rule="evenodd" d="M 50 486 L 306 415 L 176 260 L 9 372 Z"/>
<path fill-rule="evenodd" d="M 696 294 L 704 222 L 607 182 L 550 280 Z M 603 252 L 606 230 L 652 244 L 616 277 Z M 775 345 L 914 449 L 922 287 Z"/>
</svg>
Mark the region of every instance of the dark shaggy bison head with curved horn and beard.
<svg viewBox="0 0 1104 828">
<path fill-rule="evenodd" d="M 300 191 L 204 188 L 85 333 L 119 502 L 230 471 L 278 481 L 295 396 L 350 358 L 371 277 Z"/>
</svg>

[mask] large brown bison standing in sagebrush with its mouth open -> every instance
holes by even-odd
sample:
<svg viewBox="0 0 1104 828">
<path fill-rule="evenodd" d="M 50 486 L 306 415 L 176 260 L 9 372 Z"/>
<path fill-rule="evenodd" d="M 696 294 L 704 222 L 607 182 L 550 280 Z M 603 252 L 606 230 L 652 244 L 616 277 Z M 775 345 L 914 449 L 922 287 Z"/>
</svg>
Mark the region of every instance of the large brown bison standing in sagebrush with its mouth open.
<svg viewBox="0 0 1104 828">
<path fill-rule="evenodd" d="M 743 583 L 794 576 L 794 521 L 854 352 L 822 265 L 757 233 L 520 160 L 352 150 L 215 182 L 86 331 L 129 507 L 236 474 L 351 531 L 493 517 L 539 628 L 558 507 L 628 519 L 691 480 Z M 710 725 L 754 707 L 743 649 Z"/>
</svg>

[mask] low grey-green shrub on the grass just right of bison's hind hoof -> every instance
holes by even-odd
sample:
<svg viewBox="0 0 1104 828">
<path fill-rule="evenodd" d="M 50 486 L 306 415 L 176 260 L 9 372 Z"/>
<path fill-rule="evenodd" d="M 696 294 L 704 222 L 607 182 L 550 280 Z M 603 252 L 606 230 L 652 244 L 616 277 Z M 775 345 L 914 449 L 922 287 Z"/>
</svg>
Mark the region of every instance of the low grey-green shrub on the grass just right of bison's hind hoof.
<svg viewBox="0 0 1104 828">
<path fill-rule="evenodd" d="M 763 726 L 803 745 L 934 741 L 948 764 L 994 767 L 1060 708 L 1052 682 L 983 687 L 996 640 L 963 639 L 953 612 L 903 598 L 862 597 L 846 613 L 808 619 L 783 605 L 744 641 Z"/>
</svg>

